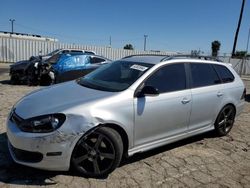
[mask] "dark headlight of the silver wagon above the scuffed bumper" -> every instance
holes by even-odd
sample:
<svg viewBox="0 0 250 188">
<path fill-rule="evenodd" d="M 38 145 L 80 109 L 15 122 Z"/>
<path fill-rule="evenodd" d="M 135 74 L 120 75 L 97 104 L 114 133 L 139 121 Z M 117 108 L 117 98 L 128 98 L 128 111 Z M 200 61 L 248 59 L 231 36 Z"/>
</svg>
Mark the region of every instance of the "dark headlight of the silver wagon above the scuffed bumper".
<svg viewBox="0 0 250 188">
<path fill-rule="evenodd" d="M 65 121 L 64 114 L 50 114 L 24 120 L 19 128 L 24 132 L 48 133 L 58 129 Z"/>
</svg>

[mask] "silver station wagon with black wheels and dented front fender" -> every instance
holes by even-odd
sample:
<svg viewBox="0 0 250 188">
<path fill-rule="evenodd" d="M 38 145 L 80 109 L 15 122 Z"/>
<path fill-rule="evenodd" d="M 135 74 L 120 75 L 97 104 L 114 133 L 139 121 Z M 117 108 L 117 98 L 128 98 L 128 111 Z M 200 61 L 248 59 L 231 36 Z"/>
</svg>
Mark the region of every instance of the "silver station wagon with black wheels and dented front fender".
<svg viewBox="0 0 250 188">
<path fill-rule="evenodd" d="M 190 56 L 128 56 L 76 81 L 32 92 L 7 120 L 15 162 L 84 177 L 131 156 L 214 130 L 229 133 L 245 87 L 229 64 Z"/>
</svg>

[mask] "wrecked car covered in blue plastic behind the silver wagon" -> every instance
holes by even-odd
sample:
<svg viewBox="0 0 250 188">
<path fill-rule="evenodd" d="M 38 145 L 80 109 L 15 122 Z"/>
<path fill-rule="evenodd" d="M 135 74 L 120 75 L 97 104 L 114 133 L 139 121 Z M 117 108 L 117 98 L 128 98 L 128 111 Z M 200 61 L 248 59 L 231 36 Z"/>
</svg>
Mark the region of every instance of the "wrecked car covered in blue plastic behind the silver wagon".
<svg viewBox="0 0 250 188">
<path fill-rule="evenodd" d="M 48 76 L 52 83 L 61 83 L 82 77 L 111 60 L 92 54 L 60 54 L 49 58 Z"/>
</svg>

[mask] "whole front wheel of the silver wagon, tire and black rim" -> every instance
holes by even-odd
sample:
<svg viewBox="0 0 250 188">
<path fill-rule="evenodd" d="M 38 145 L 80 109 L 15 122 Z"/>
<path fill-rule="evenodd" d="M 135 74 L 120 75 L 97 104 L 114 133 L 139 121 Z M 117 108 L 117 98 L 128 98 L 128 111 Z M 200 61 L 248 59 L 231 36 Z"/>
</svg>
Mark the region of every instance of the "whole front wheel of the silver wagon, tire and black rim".
<svg viewBox="0 0 250 188">
<path fill-rule="evenodd" d="M 82 176 L 104 177 L 120 164 L 122 153 L 121 136 L 112 128 L 101 127 L 78 141 L 71 162 Z"/>
</svg>

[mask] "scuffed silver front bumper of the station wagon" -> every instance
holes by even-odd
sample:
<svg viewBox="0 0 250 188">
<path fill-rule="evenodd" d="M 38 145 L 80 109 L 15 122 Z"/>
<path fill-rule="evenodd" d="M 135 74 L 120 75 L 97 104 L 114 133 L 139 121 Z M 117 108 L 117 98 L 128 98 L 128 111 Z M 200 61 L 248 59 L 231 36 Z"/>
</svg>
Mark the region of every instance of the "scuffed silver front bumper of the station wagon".
<svg viewBox="0 0 250 188">
<path fill-rule="evenodd" d="M 60 131 L 52 133 L 22 132 L 7 121 L 8 148 L 16 163 L 44 169 L 67 171 L 73 148 L 80 135 L 65 137 Z"/>
</svg>

